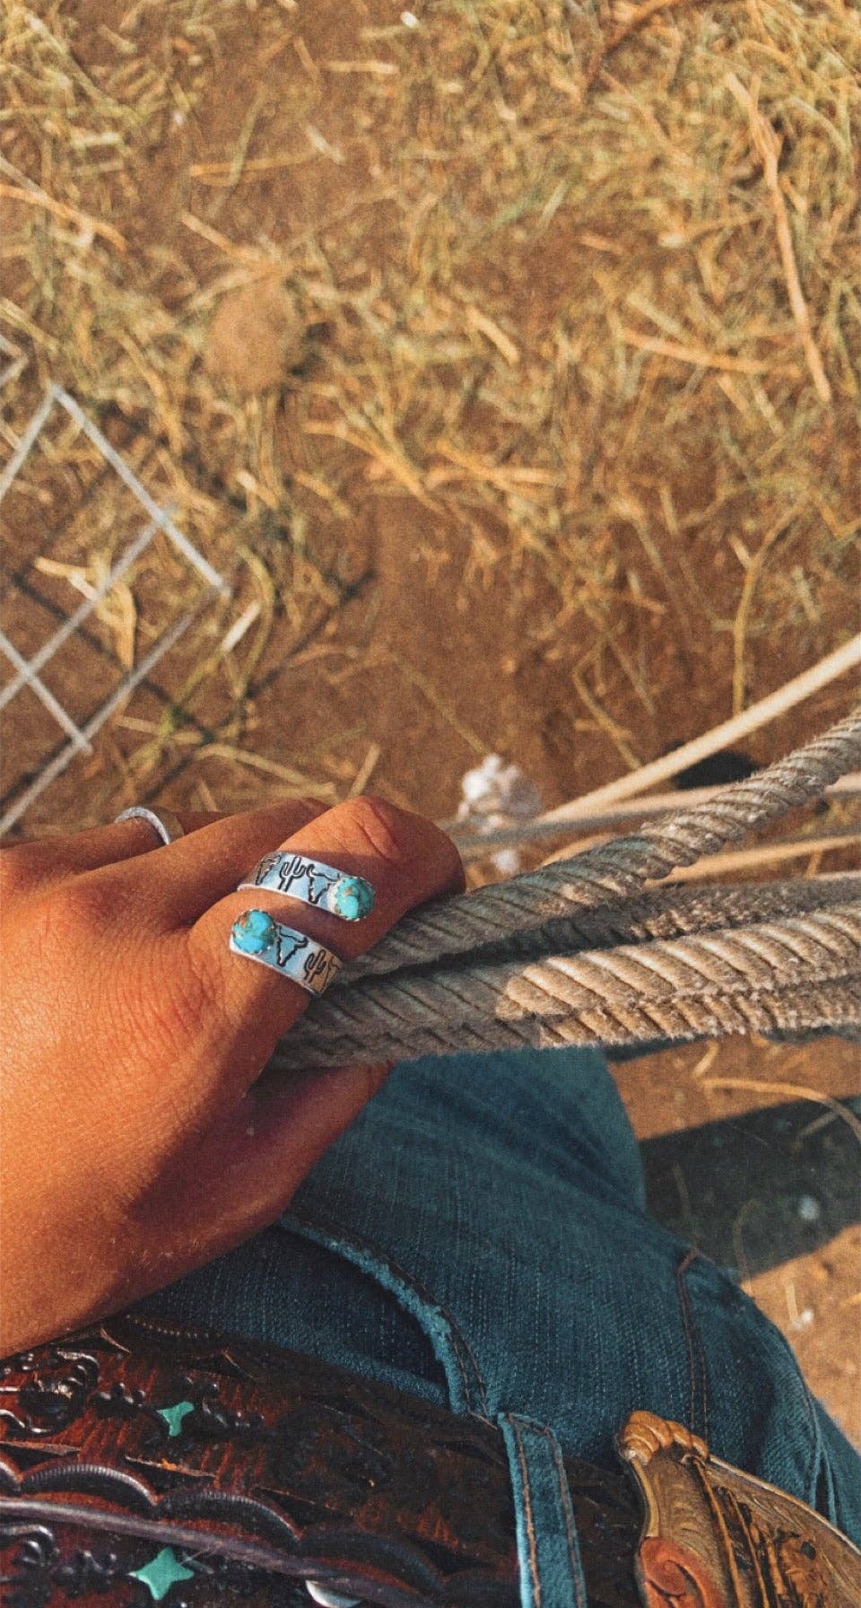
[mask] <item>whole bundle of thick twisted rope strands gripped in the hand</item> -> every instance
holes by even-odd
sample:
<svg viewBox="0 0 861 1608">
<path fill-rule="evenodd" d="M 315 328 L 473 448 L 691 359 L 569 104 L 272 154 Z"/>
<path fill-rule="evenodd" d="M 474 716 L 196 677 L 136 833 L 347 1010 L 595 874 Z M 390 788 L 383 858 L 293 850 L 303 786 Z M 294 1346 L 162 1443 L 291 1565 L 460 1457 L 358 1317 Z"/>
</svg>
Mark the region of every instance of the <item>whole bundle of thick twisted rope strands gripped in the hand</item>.
<svg viewBox="0 0 861 1608">
<path fill-rule="evenodd" d="M 861 1023 L 861 876 L 667 883 L 858 764 L 861 712 L 639 835 L 413 912 L 315 999 L 280 1069 Z"/>
</svg>

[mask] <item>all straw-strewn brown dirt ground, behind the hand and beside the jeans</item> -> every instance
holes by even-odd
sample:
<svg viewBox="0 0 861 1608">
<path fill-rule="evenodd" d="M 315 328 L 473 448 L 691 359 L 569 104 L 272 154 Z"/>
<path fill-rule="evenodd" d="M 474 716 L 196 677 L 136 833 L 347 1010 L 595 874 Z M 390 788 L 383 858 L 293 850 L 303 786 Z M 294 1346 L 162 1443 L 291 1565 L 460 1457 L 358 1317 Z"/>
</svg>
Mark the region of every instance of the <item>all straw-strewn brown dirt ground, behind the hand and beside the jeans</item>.
<svg viewBox="0 0 861 1608">
<path fill-rule="evenodd" d="M 848 14 L 652 10 L 13 0 L 6 449 L 59 381 L 231 584 L 21 830 L 368 790 L 450 818 L 488 753 L 551 807 L 858 629 Z M 51 426 L 3 503 L 21 653 L 135 515 Z M 47 685 L 87 719 L 199 590 L 159 537 Z M 21 693 L 3 802 L 55 751 Z M 856 1047 L 618 1077 L 654 1209 L 861 1446 Z"/>
</svg>

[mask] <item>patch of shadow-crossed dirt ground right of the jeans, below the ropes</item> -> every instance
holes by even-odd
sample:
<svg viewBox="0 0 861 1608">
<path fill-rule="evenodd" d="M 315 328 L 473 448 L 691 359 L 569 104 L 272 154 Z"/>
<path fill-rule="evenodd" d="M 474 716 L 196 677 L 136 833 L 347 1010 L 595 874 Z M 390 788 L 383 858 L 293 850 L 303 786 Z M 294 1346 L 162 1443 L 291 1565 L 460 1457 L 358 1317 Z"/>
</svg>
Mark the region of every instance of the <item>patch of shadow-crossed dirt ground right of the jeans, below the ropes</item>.
<svg viewBox="0 0 861 1608">
<path fill-rule="evenodd" d="M 861 1447 L 858 1048 L 724 1039 L 614 1069 L 651 1211 L 734 1270 Z"/>
</svg>

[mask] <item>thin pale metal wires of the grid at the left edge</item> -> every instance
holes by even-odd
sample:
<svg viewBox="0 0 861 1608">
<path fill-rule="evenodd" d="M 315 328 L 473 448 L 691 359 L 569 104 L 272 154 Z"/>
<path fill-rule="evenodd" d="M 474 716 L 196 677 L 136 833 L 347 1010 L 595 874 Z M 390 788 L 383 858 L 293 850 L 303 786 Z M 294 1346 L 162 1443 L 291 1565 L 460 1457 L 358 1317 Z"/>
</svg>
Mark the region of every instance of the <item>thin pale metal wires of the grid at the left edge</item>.
<svg viewBox="0 0 861 1608">
<path fill-rule="evenodd" d="M 3 357 L 10 359 L 8 365 L 0 373 L 0 386 L 18 373 L 18 365 L 21 359 L 18 354 L 3 343 Z M 104 725 L 106 720 L 114 714 L 114 711 L 129 698 L 129 695 L 138 687 L 157 666 L 159 659 L 180 640 L 180 637 L 188 630 L 191 622 L 199 617 L 202 609 L 209 601 L 215 600 L 218 595 L 228 595 L 230 589 L 222 574 L 207 560 L 193 542 L 177 527 L 172 518 L 172 508 L 159 505 L 154 497 L 146 490 L 146 486 L 138 479 L 135 471 L 129 466 L 125 458 L 111 445 L 108 437 L 98 429 L 96 425 L 87 416 L 84 408 L 67 391 L 61 386 L 51 384 L 45 392 L 39 408 L 26 425 L 18 444 L 14 445 L 10 458 L 6 460 L 3 470 L 0 471 L 0 529 L 5 532 L 5 515 L 3 500 L 6 498 L 10 489 L 13 487 L 21 470 L 27 463 L 27 458 L 35 450 L 37 444 L 47 444 L 45 437 L 50 426 L 56 416 L 56 412 L 63 410 L 74 423 L 79 431 L 87 437 L 92 447 L 96 449 L 98 455 L 104 460 L 104 465 L 114 476 L 119 478 L 125 490 L 135 498 L 143 513 L 146 515 L 146 523 L 125 545 L 119 558 L 111 564 L 109 571 L 101 577 L 98 585 L 88 589 L 84 601 L 67 614 L 58 629 L 50 635 L 35 653 L 29 656 L 21 650 L 6 630 L 0 630 L 0 650 L 3 651 L 8 664 L 11 666 L 11 679 L 5 682 L 0 690 L 0 711 L 3 711 L 13 698 L 16 698 L 24 688 L 29 688 L 32 695 L 42 703 L 48 711 L 56 727 L 66 735 L 67 741 L 59 748 L 48 746 L 48 753 L 37 762 L 35 773 L 31 769 L 24 780 L 18 778 L 11 786 L 3 790 L 5 796 L 0 799 L 0 833 L 8 831 L 16 822 L 26 815 L 34 801 L 67 769 L 67 765 L 79 754 L 93 753 L 93 738 Z M 10 433 L 6 431 L 6 439 Z M 56 691 L 45 685 L 42 672 L 47 664 L 58 654 L 58 651 L 69 643 L 77 634 L 80 634 L 90 619 L 90 616 L 98 609 L 100 603 L 111 593 L 111 590 L 130 572 L 132 566 L 140 561 L 146 548 L 149 547 L 153 537 L 157 532 L 172 542 L 173 548 L 183 560 L 191 566 L 191 569 L 204 582 L 202 593 L 196 598 L 191 608 L 186 608 L 177 619 L 173 619 L 146 648 L 146 651 L 135 656 L 135 662 L 125 669 L 117 664 L 117 674 L 114 685 L 108 691 L 98 708 L 87 714 L 85 719 L 80 716 L 75 719 L 69 709 L 63 704 Z M 18 561 L 18 553 L 14 550 L 14 542 L 8 544 L 3 537 L 3 560 L 6 574 L 10 566 Z M 10 589 L 6 579 L 3 584 L 6 593 L 6 601 L 10 601 Z M 56 613 L 56 611 L 55 611 Z M 11 598 L 11 606 L 6 608 L 6 614 L 11 614 L 8 622 L 10 632 L 14 634 L 16 624 L 16 603 Z"/>
</svg>

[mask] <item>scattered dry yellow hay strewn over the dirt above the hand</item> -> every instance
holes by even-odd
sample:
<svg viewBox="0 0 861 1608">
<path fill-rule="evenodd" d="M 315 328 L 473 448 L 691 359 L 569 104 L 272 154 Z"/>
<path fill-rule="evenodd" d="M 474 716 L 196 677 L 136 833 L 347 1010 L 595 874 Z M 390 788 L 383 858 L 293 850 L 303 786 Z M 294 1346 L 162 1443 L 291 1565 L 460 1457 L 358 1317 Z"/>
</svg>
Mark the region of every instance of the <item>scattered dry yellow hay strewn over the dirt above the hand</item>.
<svg viewBox="0 0 861 1608">
<path fill-rule="evenodd" d="M 360 624 L 352 601 L 365 516 L 395 497 L 466 616 L 501 572 L 522 601 L 524 651 L 580 717 L 570 791 L 853 627 L 851 8 L 451 0 L 361 26 L 292 0 L 10 0 L 2 29 L 0 323 L 29 355 L 11 429 L 58 379 L 236 585 L 170 708 L 140 717 L 154 730 L 114 733 L 93 809 L 207 746 L 201 796 L 222 807 L 252 796 L 238 746 L 292 757 L 320 798 L 363 767 L 403 796 L 390 730 L 337 701 L 374 619 L 373 585 Z M 243 394 L 241 352 L 204 357 L 257 285 L 289 293 L 302 331 L 281 383 Z M 116 547 L 109 510 L 87 532 L 92 473 L 67 431 L 24 487 L 66 500 L 39 556 L 79 585 Z M 127 658 L 143 611 L 124 609 L 106 632 Z M 259 730 L 255 699 L 284 666 L 310 698 L 326 654 L 345 661 L 310 764 L 271 711 Z M 469 761 L 487 720 L 440 674 L 413 664 L 405 687 Z M 684 733 L 655 696 L 673 675 L 702 693 Z M 418 764 L 413 804 L 427 785 Z"/>
</svg>

